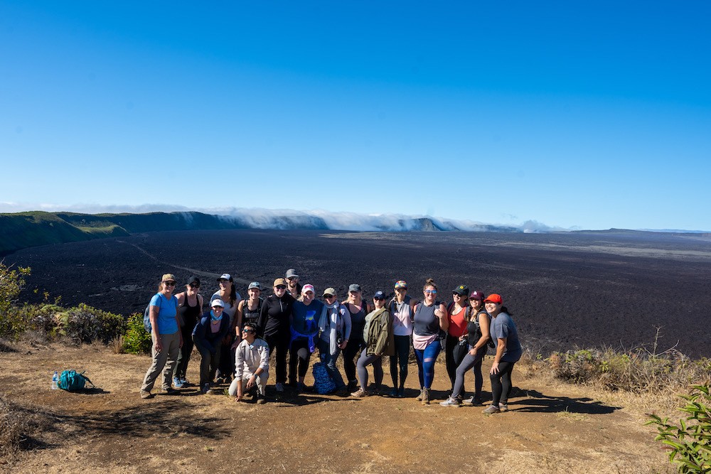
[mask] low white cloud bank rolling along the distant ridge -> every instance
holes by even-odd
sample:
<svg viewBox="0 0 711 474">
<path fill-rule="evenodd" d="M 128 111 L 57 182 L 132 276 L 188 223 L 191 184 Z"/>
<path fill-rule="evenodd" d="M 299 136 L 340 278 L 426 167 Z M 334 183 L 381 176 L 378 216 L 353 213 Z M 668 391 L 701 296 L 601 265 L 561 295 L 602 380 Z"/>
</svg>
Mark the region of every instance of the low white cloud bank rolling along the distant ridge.
<svg viewBox="0 0 711 474">
<path fill-rule="evenodd" d="M 427 215 L 359 214 L 356 212 L 331 212 L 326 210 L 291 210 L 262 208 L 186 208 L 178 205 L 27 205 L 24 203 L 0 203 L 0 212 L 23 212 L 43 210 L 47 212 L 81 212 L 86 214 L 121 213 L 144 214 L 147 212 L 181 212 L 191 218 L 189 212 L 217 215 L 244 227 L 255 229 L 324 229 L 380 232 L 407 232 L 417 230 L 464 230 L 472 232 L 554 232 L 565 231 L 550 227 L 535 220 L 521 225 L 487 224 L 473 220 L 456 220 Z"/>
</svg>

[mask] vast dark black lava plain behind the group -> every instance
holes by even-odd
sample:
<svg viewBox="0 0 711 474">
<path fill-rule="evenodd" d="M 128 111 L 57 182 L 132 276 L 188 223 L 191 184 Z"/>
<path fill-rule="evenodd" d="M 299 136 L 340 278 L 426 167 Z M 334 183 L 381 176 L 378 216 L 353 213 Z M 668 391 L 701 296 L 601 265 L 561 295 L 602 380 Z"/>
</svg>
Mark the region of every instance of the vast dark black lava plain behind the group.
<svg viewBox="0 0 711 474">
<path fill-rule="evenodd" d="M 523 343 L 543 353 L 603 345 L 652 350 L 656 328 L 658 351 L 711 352 L 707 235 L 151 232 L 23 249 L 5 263 L 31 266 L 26 301 L 41 301 L 47 291 L 65 305 L 87 303 L 124 315 L 142 312 L 167 272 L 178 277 L 178 289 L 191 274 L 200 275 L 208 296 L 223 272 L 235 276 L 242 296 L 249 281 L 270 289 L 290 267 L 319 294 L 333 286 L 343 298 L 354 282 L 368 298 L 378 289 L 392 294 L 398 279 L 420 298 L 432 277 L 444 301 L 459 284 L 501 293 Z"/>
</svg>

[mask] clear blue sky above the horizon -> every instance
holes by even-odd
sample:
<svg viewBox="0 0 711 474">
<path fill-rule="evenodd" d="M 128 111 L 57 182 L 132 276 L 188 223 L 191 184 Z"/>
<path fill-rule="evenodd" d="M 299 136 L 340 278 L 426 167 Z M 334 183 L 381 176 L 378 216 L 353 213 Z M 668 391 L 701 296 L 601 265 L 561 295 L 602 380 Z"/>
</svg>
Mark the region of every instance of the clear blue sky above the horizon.
<svg viewBox="0 0 711 474">
<path fill-rule="evenodd" d="M 0 3 L 0 212 L 711 230 L 711 4 Z"/>
</svg>

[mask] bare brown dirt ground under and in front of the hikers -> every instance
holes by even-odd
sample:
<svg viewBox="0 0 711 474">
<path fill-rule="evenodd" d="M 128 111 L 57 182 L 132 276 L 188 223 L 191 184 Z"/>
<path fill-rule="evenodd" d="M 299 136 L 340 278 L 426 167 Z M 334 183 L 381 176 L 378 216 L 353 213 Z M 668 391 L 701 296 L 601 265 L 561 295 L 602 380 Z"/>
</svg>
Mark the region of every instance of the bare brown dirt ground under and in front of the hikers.
<svg viewBox="0 0 711 474">
<path fill-rule="evenodd" d="M 437 400 L 430 406 L 412 398 L 414 365 L 404 399 L 275 399 L 270 379 L 270 401 L 258 406 L 200 395 L 192 387 L 181 396 L 142 400 L 139 384 L 149 357 L 101 345 L 32 345 L 0 352 L 0 362 L 0 393 L 46 422 L 28 447 L 0 460 L 0 470 L 12 473 L 673 472 L 653 429 L 642 426 L 639 406 L 621 406 L 589 387 L 560 384 L 523 366 L 514 370 L 519 390 L 511 410 L 486 416 L 481 407 L 437 404 L 449 387 L 444 365 L 437 367 Z M 488 356 L 486 370 L 490 363 Z M 100 389 L 50 390 L 53 370 L 62 368 L 86 370 Z M 198 379 L 198 357 L 188 379 Z M 310 372 L 306 382 L 312 382 Z"/>
</svg>

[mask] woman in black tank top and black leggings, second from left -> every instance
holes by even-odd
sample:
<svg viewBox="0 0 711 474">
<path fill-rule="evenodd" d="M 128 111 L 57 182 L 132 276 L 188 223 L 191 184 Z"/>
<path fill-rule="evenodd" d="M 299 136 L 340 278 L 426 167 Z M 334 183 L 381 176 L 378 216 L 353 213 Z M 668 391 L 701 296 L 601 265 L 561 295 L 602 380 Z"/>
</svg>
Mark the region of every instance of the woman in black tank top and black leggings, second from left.
<svg viewBox="0 0 711 474">
<path fill-rule="evenodd" d="M 178 299 L 178 324 L 183 336 L 183 347 L 178 353 L 178 367 L 175 375 L 173 375 L 173 385 L 175 385 L 176 389 L 188 386 L 185 376 L 188 371 L 190 355 L 193 352 L 193 329 L 203 314 L 203 296 L 198 294 L 199 290 L 200 279 L 197 276 L 191 276 L 185 286 L 185 291 L 176 295 Z"/>
</svg>

